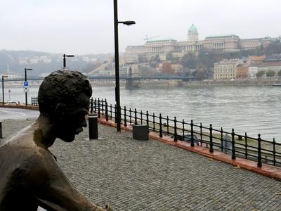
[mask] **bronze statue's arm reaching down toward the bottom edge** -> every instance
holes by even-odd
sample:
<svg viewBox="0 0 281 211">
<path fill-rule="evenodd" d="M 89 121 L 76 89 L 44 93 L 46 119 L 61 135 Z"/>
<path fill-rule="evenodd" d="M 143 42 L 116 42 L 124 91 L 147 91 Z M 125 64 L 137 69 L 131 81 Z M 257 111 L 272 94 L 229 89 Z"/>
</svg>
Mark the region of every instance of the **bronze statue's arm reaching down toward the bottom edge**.
<svg viewBox="0 0 281 211">
<path fill-rule="evenodd" d="M 28 175 L 25 188 L 39 200 L 41 207 L 47 210 L 104 210 L 91 203 L 72 186 L 53 157 L 47 155 L 33 160 L 37 165 L 34 165 Z"/>
</svg>

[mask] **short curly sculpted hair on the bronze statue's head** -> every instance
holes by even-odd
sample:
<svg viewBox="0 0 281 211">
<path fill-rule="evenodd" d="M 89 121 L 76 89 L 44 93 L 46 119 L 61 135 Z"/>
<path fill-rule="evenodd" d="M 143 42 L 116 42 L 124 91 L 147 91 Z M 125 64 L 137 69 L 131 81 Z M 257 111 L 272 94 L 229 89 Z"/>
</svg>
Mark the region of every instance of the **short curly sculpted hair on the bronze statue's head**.
<svg viewBox="0 0 281 211">
<path fill-rule="evenodd" d="M 70 70 L 51 72 L 39 87 L 40 113 L 51 115 L 58 103 L 75 107 L 81 93 L 89 97 L 92 95 L 91 84 L 81 72 Z"/>
</svg>

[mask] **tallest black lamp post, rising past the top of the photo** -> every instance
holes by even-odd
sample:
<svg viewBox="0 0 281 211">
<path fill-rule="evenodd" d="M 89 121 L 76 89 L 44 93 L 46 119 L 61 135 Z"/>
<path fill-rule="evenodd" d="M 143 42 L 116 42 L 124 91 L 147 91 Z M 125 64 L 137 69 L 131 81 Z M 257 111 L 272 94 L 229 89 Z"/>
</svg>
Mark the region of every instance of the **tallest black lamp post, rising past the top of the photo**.
<svg viewBox="0 0 281 211">
<path fill-rule="evenodd" d="M 114 0 L 114 23 L 115 23 L 115 101 L 116 101 L 116 122 L 117 132 L 121 131 L 121 107 L 120 107 L 120 84 L 119 84 L 119 49 L 118 49 L 118 23 L 124 25 L 136 24 L 133 20 L 118 21 L 117 0 Z"/>
</svg>

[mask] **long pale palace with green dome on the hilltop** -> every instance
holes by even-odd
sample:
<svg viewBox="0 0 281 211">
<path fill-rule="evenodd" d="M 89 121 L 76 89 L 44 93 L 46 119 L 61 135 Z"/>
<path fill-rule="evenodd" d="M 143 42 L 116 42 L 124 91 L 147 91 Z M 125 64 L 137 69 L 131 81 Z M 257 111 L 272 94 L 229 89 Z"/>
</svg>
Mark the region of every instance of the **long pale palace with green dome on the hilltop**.
<svg viewBox="0 0 281 211">
<path fill-rule="evenodd" d="M 195 25 L 188 28 L 188 39 L 176 41 L 176 39 L 145 39 L 141 46 L 127 46 L 125 49 L 125 60 L 127 63 L 138 63 L 141 58 L 152 58 L 159 56 L 165 60 L 167 53 L 182 57 L 190 51 L 240 51 L 256 49 L 267 46 L 277 38 L 263 37 L 252 39 L 240 39 L 235 34 L 221 34 L 198 39 L 198 30 Z"/>
</svg>

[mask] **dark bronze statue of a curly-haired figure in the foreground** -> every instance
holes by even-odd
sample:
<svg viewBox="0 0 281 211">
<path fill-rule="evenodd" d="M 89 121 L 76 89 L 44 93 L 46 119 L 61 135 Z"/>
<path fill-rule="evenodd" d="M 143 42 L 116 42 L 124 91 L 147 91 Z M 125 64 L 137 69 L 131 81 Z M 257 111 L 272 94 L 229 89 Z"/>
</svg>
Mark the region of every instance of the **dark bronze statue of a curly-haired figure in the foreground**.
<svg viewBox="0 0 281 211">
<path fill-rule="evenodd" d="M 40 115 L 0 146 L 0 210 L 105 210 L 77 191 L 48 151 L 86 127 L 91 84 L 76 71 L 58 70 L 42 82 Z M 106 207 L 110 210 L 110 207 Z"/>
</svg>

